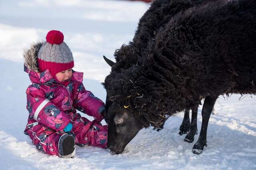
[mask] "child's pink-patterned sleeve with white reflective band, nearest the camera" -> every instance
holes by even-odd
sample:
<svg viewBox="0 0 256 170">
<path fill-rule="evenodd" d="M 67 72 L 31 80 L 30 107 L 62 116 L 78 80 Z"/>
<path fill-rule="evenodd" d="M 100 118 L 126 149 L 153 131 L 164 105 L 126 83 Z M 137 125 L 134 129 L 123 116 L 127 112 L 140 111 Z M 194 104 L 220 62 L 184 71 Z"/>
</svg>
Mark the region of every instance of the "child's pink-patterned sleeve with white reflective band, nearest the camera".
<svg viewBox="0 0 256 170">
<path fill-rule="evenodd" d="M 27 109 L 31 118 L 57 132 L 64 133 L 64 128 L 71 122 L 71 117 L 44 98 L 41 90 L 29 86 L 26 94 Z"/>
</svg>

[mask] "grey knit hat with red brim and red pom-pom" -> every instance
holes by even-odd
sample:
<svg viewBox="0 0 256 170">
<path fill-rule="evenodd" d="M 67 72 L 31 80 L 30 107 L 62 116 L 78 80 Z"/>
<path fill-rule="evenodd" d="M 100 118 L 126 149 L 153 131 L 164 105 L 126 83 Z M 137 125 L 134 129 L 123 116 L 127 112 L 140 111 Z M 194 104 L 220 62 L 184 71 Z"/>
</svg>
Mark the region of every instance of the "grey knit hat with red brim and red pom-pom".
<svg viewBox="0 0 256 170">
<path fill-rule="evenodd" d="M 46 42 L 38 52 L 38 67 L 40 72 L 48 69 L 52 76 L 56 73 L 74 67 L 74 59 L 68 45 L 64 43 L 64 35 L 52 30 L 46 35 Z"/>
</svg>

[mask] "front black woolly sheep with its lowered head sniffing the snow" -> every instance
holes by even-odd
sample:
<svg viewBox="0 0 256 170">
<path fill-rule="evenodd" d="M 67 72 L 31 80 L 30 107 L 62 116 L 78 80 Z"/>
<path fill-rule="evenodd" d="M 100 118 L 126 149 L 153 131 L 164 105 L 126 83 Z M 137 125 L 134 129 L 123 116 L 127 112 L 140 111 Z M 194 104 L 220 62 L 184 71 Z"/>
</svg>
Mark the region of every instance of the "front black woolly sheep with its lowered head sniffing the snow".
<svg viewBox="0 0 256 170">
<path fill-rule="evenodd" d="M 145 45 L 135 35 L 133 43 L 116 51 L 116 63 L 108 62 L 108 147 L 117 154 L 143 127 L 159 127 L 167 115 L 184 109 L 197 113 L 204 98 L 200 136 L 193 147 L 200 154 L 218 96 L 256 94 L 256 0 L 209 0 L 181 9 L 179 2 L 185 1 L 164 2 L 155 7 L 168 10 L 147 16 L 153 29 L 143 31 L 139 23 L 142 33 L 136 32 L 153 32 L 154 38 L 146 38 Z M 171 4 L 176 6 L 169 8 Z M 166 22 L 161 25 L 158 16 Z"/>
</svg>

